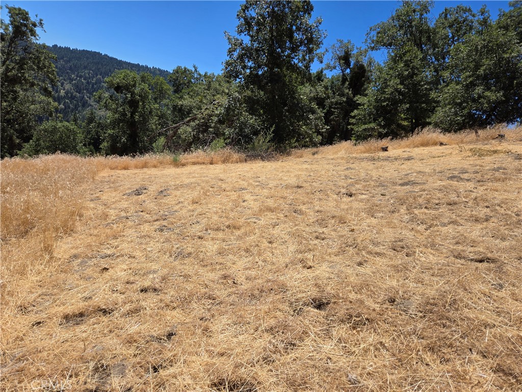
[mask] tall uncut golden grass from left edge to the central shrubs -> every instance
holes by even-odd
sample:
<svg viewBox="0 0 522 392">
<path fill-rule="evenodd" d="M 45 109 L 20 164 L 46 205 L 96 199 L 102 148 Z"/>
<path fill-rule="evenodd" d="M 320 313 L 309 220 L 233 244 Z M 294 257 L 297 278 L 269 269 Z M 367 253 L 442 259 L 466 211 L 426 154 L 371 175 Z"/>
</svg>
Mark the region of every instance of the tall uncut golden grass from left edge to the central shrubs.
<svg viewBox="0 0 522 392">
<path fill-rule="evenodd" d="M 32 230 L 69 232 L 85 202 L 83 186 L 104 170 L 130 170 L 162 166 L 219 165 L 245 162 L 243 154 L 223 149 L 173 156 L 81 158 L 66 154 L 33 159 L 4 159 L 1 170 L 0 236 L 20 238 Z"/>
</svg>

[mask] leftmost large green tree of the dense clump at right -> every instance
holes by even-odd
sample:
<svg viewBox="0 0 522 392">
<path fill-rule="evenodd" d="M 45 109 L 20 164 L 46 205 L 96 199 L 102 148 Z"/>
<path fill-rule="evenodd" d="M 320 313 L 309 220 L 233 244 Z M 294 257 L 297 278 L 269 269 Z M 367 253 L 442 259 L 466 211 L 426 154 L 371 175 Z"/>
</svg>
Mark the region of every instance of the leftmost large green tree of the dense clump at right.
<svg viewBox="0 0 522 392">
<path fill-rule="evenodd" d="M 430 123 L 435 109 L 430 72 L 433 2 L 402 2 L 388 20 L 370 28 L 370 50 L 388 58 L 373 78 L 367 97 L 353 113 L 355 139 L 400 137 Z"/>
</svg>

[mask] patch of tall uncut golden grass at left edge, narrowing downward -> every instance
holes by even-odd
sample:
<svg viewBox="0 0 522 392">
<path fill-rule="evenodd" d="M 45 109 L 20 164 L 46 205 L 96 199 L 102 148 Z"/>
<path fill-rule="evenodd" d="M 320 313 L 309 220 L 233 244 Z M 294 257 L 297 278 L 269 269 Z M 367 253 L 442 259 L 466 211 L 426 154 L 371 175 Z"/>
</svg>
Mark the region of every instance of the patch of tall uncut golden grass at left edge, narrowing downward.
<svg viewBox="0 0 522 392">
<path fill-rule="evenodd" d="M 96 178 L 89 159 L 56 154 L 0 163 L 2 304 L 38 286 L 42 274 L 59 268 L 53 251 L 84 211 L 86 186 Z M 23 280 L 24 284 L 20 284 Z M 5 334 L 5 328 L 2 333 Z"/>
</svg>

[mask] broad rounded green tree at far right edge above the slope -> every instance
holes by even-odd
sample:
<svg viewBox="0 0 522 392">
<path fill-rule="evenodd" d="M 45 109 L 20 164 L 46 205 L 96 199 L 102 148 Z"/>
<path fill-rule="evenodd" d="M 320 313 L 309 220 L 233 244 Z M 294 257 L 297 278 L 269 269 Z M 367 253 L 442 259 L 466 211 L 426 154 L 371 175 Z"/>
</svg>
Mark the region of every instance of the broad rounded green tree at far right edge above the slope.
<svg viewBox="0 0 522 392">
<path fill-rule="evenodd" d="M 450 51 L 434 123 L 458 131 L 522 117 L 522 47 L 515 34 L 491 25 Z"/>
</svg>

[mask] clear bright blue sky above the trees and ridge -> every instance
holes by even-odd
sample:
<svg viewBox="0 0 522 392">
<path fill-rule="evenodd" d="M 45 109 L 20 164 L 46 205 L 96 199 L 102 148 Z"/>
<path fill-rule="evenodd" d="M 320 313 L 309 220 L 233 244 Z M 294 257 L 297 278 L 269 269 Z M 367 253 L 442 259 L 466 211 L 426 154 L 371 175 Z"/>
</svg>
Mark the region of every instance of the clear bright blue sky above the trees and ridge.
<svg viewBox="0 0 522 392">
<path fill-rule="evenodd" d="M 235 32 L 237 1 L 9 1 L 43 19 L 40 41 L 88 49 L 118 59 L 171 71 L 177 65 L 220 73 L 228 44 L 223 31 Z M 486 4 L 496 19 L 507 1 L 437 1 L 435 18 L 447 6 Z M 315 1 L 314 17 L 323 18 L 325 47 L 337 39 L 362 45 L 368 28 L 386 20 L 396 1 Z M 2 18 L 6 19 L 5 8 Z M 319 64 L 315 65 L 315 68 Z"/>
</svg>

